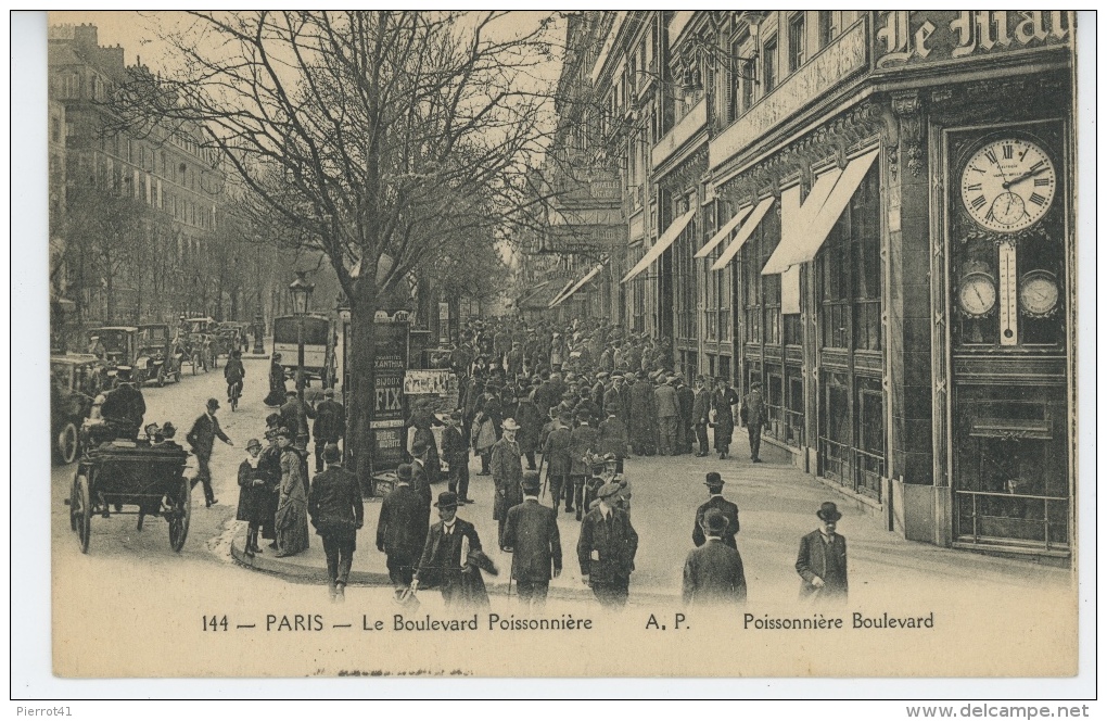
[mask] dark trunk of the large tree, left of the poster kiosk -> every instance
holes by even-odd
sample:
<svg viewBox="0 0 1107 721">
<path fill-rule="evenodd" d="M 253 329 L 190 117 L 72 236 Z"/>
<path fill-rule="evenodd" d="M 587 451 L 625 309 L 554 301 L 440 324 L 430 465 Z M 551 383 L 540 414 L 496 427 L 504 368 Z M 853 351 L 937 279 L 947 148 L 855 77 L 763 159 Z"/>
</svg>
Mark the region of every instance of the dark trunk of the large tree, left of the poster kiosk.
<svg viewBox="0 0 1107 721">
<path fill-rule="evenodd" d="M 362 287 L 364 284 L 364 287 Z M 350 393 L 346 409 L 346 443 L 362 490 L 372 487 L 373 439 L 371 423 L 375 399 L 376 288 L 362 281 L 350 298 Z"/>
</svg>

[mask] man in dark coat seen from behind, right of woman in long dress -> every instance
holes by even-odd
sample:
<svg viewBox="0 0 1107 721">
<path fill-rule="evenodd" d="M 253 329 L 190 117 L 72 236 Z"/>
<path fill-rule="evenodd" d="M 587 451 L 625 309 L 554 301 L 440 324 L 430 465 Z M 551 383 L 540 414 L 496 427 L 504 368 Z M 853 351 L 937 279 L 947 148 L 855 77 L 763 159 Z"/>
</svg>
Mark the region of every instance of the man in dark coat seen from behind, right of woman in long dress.
<svg viewBox="0 0 1107 721">
<path fill-rule="evenodd" d="M 331 600 L 345 600 L 353 552 L 358 548 L 358 532 L 364 523 L 361 487 L 358 476 L 341 465 L 342 452 L 337 445 L 323 449 L 327 470 L 315 475 L 308 497 L 308 514 L 315 533 L 323 539 L 327 554 L 327 578 Z"/>
</svg>

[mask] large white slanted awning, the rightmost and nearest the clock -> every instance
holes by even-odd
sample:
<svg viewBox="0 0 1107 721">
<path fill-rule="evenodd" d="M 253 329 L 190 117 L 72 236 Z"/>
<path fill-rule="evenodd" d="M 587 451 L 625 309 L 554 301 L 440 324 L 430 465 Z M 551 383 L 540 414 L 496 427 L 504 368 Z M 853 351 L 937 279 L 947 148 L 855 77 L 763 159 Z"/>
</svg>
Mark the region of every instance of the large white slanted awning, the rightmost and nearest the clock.
<svg viewBox="0 0 1107 721">
<path fill-rule="evenodd" d="M 780 245 L 762 269 L 763 276 L 784 272 L 789 266 L 815 259 L 879 154 L 879 150 L 866 153 L 850 161 L 840 174 L 824 175 L 815 183 L 807 200 L 798 209 L 798 217 L 783 224 L 785 230 L 780 237 Z M 823 183 L 824 188 L 827 187 L 831 175 L 837 175 L 834 188 L 826 195 L 826 199 L 820 202 L 816 190 L 821 194 L 823 188 L 819 184 Z M 784 209 L 787 212 L 788 206 L 785 205 Z"/>
</svg>

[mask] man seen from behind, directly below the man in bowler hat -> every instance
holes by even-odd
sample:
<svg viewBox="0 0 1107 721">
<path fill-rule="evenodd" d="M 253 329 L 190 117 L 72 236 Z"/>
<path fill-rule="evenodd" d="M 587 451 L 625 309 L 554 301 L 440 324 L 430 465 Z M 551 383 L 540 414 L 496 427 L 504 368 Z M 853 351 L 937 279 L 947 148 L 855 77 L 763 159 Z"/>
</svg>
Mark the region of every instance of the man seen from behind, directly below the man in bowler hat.
<svg viewBox="0 0 1107 721">
<path fill-rule="evenodd" d="M 746 574 L 737 549 L 723 543 L 727 519 L 711 508 L 703 517 L 704 545 L 689 552 L 684 562 L 684 605 L 745 605 Z"/>
</svg>

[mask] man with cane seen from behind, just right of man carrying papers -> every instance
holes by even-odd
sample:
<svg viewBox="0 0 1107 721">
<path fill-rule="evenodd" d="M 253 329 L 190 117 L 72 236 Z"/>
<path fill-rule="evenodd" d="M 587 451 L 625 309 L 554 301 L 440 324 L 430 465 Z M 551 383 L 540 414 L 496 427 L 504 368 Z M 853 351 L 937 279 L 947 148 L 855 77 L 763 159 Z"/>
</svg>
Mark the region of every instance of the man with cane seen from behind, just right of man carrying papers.
<svg viewBox="0 0 1107 721">
<path fill-rule="evenodd" d="M 523 473 L 523 503 L 507 512 L 504 547 L 510 548 L 511 578 L 519 600 L 528 609 L 541 610 L 550 578 L 561 575 L 561 535 L 557 512 L 538 503 L 538 472 Z"/>
</svg>

